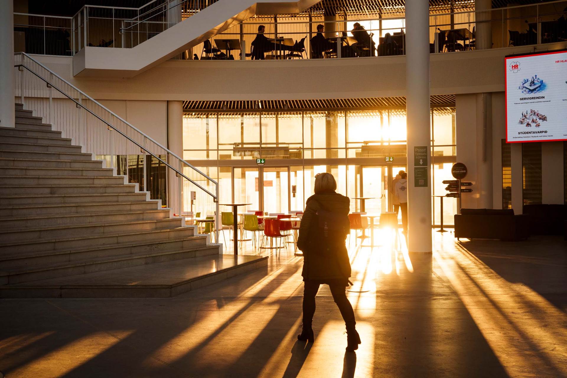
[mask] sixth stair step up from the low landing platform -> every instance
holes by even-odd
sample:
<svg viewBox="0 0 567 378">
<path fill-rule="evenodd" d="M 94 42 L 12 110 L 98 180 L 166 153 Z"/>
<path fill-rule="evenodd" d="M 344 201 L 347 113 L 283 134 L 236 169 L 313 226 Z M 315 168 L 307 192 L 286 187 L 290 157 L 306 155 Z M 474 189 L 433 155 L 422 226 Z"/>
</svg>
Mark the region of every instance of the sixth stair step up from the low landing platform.
<svg viewBox="0 0 567 378">
<path fill-rule="evenodd" d="M 140 202 L 99 202 L 99 203 L 54 203 L 43 205 L 11 205 L 0 206 L 0 216 L 26 216 L 26 215 L 63 215 L 104 213 L 109 209 L 113 211 L 158 210 L 160 201 L 150 199 Z"/>
</svg>

